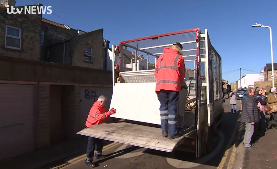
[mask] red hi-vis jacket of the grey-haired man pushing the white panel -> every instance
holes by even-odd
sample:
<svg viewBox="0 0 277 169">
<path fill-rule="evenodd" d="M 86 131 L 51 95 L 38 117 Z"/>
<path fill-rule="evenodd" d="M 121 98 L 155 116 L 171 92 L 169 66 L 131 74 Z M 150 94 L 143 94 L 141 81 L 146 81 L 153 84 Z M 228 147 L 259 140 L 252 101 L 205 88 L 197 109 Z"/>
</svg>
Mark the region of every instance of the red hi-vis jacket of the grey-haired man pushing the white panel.
<svg viewBox="0 0 277 169">
<path fill-rule="evenodd" d="M 91 127 L 99 123 L 103 123 L 108 118 L 108 112 L 98 100 L 90 108 L 89 115 L 87 116 L 86 126 Z"/>
</svg>

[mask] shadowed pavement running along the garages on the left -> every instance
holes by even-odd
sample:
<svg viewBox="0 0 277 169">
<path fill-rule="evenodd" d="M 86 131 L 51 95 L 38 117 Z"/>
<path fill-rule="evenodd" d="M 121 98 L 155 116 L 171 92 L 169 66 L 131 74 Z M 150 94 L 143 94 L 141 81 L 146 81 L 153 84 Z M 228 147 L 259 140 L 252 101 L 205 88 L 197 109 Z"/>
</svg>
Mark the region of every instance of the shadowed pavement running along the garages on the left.
<svg viewBox="0 0 277 169">
<path fill-rule="evenodd" d="M 111 142 L 104 142 L 104 145 Z M 74 140 L 61 142 L 52 147 L 46 147 L 33 152 L 21 154 L 0 161 L 0 169 L 41 169 L 48 166 L 68 165 L 67 159 L 78 157 L 85 153 L 87 138 L 78 137 Z"/>
</svg>

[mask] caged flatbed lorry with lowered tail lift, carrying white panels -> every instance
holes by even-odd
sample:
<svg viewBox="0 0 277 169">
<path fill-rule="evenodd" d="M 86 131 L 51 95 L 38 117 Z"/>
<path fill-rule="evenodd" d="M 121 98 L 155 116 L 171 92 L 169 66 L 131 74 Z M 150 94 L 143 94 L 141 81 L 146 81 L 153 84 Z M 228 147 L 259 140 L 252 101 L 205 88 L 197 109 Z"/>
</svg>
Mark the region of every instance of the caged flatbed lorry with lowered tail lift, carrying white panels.
<svg viewBox="0 0 277 169">
<path fill-rule="evenodd" d="M 183 46 L 187 89 L 179 95 L 177 126 L 182 136 L 169 140 L 160 129 L 160 103 L 155 93 L 157 58 L 164 47 Z M 77 134 L 173 152 L 194 152 L 201 157 L 211 150 L 214 131 L 223 113 L 221 57 L 207 29 L 164 33 L 120 42 L 112 46 L 113 95 L 110 108 L 117 121 L 85 128 Z M 146 58 L 144 57 L 146 56 Z"/>
</svg>

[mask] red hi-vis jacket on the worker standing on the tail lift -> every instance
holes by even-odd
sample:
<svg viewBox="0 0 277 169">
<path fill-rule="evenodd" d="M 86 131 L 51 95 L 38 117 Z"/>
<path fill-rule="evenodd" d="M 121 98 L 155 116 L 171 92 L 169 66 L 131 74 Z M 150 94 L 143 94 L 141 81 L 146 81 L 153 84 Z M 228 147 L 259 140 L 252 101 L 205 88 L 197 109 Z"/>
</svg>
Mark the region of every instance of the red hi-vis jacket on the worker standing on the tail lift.
<svg viewBox="0 0 277 169">
<path fill-rule="evenodd" d="M 186 75 L 185 69 L 183 57 L 171 47 L 164 48 L 164 53 L 156 62 L 156 93 L 160 90 L 181 92 L 181 86 Z"/>
</svg>

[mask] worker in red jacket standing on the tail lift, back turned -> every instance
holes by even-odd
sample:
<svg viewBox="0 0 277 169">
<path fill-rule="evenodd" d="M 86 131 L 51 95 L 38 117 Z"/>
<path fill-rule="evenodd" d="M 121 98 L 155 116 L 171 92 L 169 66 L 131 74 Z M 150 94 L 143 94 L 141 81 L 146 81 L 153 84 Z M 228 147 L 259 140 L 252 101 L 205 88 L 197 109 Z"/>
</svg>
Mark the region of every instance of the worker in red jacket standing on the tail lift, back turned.
<svg viewBox="0 0 277 169">
<path fill-rule="evenodd" d="M 186 74 L 182 50 L 183 46 L 180 43 L 166 47 L 156 62 L 156 93 L 161 104 L 162 136 L 168 139 L 179 137 L 176 116 L 179 93 Z"/>
</svg>

